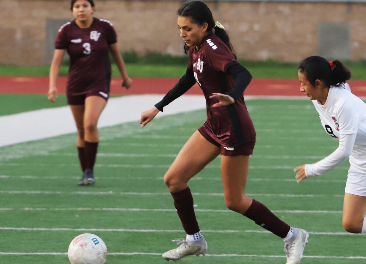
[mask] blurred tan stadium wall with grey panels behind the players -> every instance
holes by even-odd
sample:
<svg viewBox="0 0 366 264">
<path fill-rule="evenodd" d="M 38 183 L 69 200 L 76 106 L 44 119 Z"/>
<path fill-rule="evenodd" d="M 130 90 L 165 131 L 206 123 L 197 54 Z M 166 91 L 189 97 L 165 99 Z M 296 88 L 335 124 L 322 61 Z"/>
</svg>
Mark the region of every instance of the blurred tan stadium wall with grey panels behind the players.
<svg viewBox="0 0 366 264">
<path fill-rule="evenodd" d="M 183 1 L 95 0 L 121 51 L 183 54 L 176 11 Z M 299 61 L 366 59 L 366 3 L 206 1 L 228 30 L 239 58 Z M 58 28 L 72 19 L 69 0 L 0 0 L 0 63 L 51 62 Z"/>
</svg>

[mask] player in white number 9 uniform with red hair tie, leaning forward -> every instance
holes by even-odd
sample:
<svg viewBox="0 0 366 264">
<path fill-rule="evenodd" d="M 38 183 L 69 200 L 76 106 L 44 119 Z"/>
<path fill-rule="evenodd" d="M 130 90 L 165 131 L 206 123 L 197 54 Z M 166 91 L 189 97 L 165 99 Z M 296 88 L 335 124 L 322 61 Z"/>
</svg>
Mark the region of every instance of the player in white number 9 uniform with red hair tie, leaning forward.
<svg viewBox="0 0 366 264">
<path fill-rule="evenodd" d="M 343 227 L 366 233 L 366 104 L 351 93 L 350 71 L 340 61 L 311 56 L 300 62 L 300 91 L 310 97 L 325 131 L 339 138 L 338 148 L 321 161 L 294 169 L 299 182 L 321 175 L 350 157 L 343 202 Z"/>
</svg>

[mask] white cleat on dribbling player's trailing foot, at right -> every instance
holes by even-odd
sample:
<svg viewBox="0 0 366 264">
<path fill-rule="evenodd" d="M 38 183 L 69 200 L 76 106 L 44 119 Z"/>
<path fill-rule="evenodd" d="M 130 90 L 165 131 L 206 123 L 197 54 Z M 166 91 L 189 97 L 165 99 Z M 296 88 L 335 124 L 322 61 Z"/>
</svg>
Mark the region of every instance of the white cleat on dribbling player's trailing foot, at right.
<svg viewBox="0 0 366 264">
<path fill-rule="evenodd" d="M 295 239 L 291 243 L 285 243 L 285 252 L 286 252 L 286 264 L 299 264 L 301 258 L 303 257 L 302 253 L 304 252 L 305 245 L 307 244 L 309 239 L 309 234 L 303 230 L 299 229 L 299 233 L 295 237 Z"/>
</svg>

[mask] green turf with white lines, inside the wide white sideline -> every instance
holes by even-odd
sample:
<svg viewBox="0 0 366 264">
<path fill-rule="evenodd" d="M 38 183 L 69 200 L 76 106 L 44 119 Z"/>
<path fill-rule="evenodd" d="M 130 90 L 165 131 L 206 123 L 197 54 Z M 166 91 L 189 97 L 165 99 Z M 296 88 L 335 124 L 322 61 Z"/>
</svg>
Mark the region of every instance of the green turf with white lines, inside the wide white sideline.
<svg viewBox="0 0 366 264">
<path fill-rule="evenodd" d="M 311 102 L 248 100 L 247 106 L 257 131 L 247 194 L 311 232 L 305 255 L 312 257 L 302 263 L 365 263 L 365 237 L 341 226 L 348 163 L 301 184 L 294 179 L 292 168 L 337 147 Z M 204 120 L 202 110 L 158 118 L 144 129 L 138 122 L 101 129 L 92 187 L 76 185 L 75 134 L 0 148 L 0 263 L 67 264 L 64 253 L 80 233 L 105 241 L 109 264 L 166 263 L 160 254 L 185 234 L 163 175 Z M 209 255 L 182 263 L 285 263 L 278 237 L 226 210 L 219 166 L 220 157 L 190 181 Z M 344 259 L 350 256 L 363 259 Z"/>
</svg>

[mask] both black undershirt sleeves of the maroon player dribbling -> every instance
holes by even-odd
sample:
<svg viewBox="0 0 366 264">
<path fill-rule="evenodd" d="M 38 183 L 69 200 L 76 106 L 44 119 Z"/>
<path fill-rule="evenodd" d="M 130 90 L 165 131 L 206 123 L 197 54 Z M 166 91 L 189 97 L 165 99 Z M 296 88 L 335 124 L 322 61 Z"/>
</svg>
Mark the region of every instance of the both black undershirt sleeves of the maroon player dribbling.
<svg viewBox="0 0 366 264">
<path fill-rule="evenodd" d="M 235 81 L 234 87 L 227 94 L 236 101 L 243 95 L 243 92 L 249 85 L 252 76 L 250 72 L 237 61 L 226 65 L 224 72 Z M 165 106 L 187 92 L 195 83 L 196 79 L 193 75 L 193 69 L 187 68 L 186 73 L 182 78 L 180 78 L 178 83 L 163 97 L 160 102 L 155 104 L 155 107 L 158 108 L 159 111 L 163 112 L 163 108 Z"/>
</svg>

